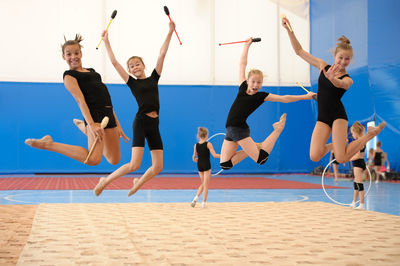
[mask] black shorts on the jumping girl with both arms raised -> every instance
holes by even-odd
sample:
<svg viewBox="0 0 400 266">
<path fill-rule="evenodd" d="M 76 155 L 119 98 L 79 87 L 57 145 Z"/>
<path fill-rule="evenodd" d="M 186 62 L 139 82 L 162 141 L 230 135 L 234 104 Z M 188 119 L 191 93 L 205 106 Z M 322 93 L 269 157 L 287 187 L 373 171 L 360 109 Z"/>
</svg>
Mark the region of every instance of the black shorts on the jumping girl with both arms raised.
<svg viewBox="0 0 400 266">
<path fill-rule="evenodd" d="M 132 147 L 144 147 L 145 139 L 150 150 L 162 150 L 160 130 L 158 129 L 158 117 L 137 115 L 133 121 Z"/>
</svg>

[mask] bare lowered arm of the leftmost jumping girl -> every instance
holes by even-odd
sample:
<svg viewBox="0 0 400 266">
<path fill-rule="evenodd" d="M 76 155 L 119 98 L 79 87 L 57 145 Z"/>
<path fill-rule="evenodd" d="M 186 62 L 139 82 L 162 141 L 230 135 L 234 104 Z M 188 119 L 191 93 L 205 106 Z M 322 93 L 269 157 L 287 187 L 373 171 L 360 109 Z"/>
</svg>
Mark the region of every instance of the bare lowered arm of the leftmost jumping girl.
<svg viewBox="0 0 400 266">
<path fill-rule="evenodd" d="M 95 123 L 93 121 L 92 115 L 90 114 L 89 107 L 86 104 L 85 97 L 82 94 L 81 89 L 79 88 L 78 81 L 69 75 L 64 77 L 64 85 L 67 90 L 71 93 L 72 97 L 74 97 L 75 101 L 78 103 L 79 109 L 86 122 L 88 123 L 89 132 L 94 136 L 99 136 L 100 138 L 103 136 L 103 129 L 100 127 L 100 124 Z"/>
</svg>

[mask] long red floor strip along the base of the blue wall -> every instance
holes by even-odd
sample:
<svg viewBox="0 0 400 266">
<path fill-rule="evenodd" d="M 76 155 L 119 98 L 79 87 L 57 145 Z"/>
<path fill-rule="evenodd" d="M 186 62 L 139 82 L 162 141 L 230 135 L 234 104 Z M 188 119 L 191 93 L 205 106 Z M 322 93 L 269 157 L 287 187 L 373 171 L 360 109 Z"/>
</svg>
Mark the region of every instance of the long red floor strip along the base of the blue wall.
<svg viewBox="0 0 400 266">
<path fill-rule="evenodd" d="M 87 190 L 93 189 L 95 177 L 12 177 L 0 178 L 0 190 Z M 114 180 L 107 189 L 130 189 L 132 177 Z M 142 189 L 197 189 L 198 177 L 158 177 Z M 326 188 L 345 188 L 325 186 Z M 263 177 L 213 177 L 210 189 L 321 189 L 320 184 Z"/>
</svg>

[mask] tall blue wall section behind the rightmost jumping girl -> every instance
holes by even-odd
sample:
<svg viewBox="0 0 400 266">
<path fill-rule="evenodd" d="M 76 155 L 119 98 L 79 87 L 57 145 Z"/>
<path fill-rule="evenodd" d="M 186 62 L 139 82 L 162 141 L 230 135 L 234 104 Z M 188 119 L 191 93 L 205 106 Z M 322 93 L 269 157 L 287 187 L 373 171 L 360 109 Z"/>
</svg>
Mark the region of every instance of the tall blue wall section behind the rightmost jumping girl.
<svg viewBox="0 0 400 266">
<path fill-rule="evenodd" d="M 397 0 L 310 1 L 311 53 L 331 64 L 328 50 L 337 38 L 350 39 L 354 60 L 348 72 L 354 84 L 343 97 L 349 123 L 370 117 L 387 123 L 378 139 L 396 171 L 400 171 L 399 10 Z M 318 75 L 311 70 L 314 90 Z"/>
</svg>

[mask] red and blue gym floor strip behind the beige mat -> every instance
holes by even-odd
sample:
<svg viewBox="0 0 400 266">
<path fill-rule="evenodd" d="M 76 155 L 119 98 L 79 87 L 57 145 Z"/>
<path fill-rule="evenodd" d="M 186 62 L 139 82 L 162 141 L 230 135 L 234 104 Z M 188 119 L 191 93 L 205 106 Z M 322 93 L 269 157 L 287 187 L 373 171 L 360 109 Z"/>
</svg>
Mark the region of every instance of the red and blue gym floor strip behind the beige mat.
<svg viewBox="0 0 400 266">
<path fill-rule="evenodd" d="M 96 197 L 92 188 L 99 175 L 3 175 L 0 177 L 0 204 L 41 203 L 183 203 L 193 199 L 200 178 L 195 174 L 163 174 L 128 197 L 132 177 L 114 181 Z M 349 204 L 353 197 L 351 179 L 324 179 L 326 192 L 338 202 Z M 400 183 L 364 182 L 367 210 L 400 216 Z M 200 200 L 201 201 L 201 198 Z M 208 202 L 300 202 L 333 203 L 324 193 L 320 176 L 219 175 L 212 177 Z"/>
</svg>

